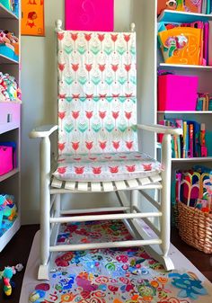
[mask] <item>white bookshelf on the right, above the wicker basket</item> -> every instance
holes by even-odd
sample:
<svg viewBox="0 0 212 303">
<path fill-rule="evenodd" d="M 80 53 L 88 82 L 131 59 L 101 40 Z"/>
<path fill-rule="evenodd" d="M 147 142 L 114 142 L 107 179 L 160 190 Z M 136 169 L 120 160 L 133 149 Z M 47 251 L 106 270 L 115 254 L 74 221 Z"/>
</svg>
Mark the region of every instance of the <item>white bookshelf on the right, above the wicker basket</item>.
<svg viewBox="0 0 212 303">
<path fill-rule="evenodd" d="M 155 4 L 156 5 L 156 4 Z M 196 22 L 212 21 L 212 14 L 202 13 L 186 13 L 176 12 L 171 10 L 165 10 L 157 18 L 157 22 Z M 156 27 L 157 28 L 157 27 Z M 212 43 L 212 41 L 210 41 Z M 197 66 L 197 65 L 182 65 L 182 64 L 167 64 L 163 62 L 163 56 L 161 49 L 157 48 L 157 31 L 155 33 L 155 54 L 156 54 L 156 67 L 158 70 L 172 71 L 175 75 L 185 76 L 199 76 L 199 93 L 212 94 L 212 67 L 211 66 Z M 155 69 L 155 76 L 157 72 Z M 156 88 L 157 90 L 157 88 Z M 186 102 L 186 100 L 185 100 Z M 155 108 L 157 108 L 157 93 L 155 94 Z M 156 111 L 156 120 L 163 120 L 178 118 L 182 120 L 196 120 L 199 123 L 206 124 L 206 130 L 208 131 L 212 140 L 212 111 Z M 156 140 L 157 138 L 155 138 Z M 156 142 L 155 149 L 157 155 L 160 156 L 161 144 Z M 175 172 L 177 170 L 190 169 L 195 165 L 203 165 L 212 169 L 212 144 L 208 148 L 208 156 L 206 157 L 192 157 L 192 158 L 172 158 L 172 183 L 175 180 Z"/>
</svg>

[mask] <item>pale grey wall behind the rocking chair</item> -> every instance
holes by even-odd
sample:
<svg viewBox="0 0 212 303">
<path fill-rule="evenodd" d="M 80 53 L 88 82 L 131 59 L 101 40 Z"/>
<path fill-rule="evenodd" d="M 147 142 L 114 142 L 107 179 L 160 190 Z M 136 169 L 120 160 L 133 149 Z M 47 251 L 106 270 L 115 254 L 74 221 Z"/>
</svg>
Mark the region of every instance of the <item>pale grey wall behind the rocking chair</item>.
<svg viewBox="0 0 212 303">
<path fill-rule="evenodd" d="M 139 20 L 140 2 L 115 0 L 116 31 L 128 31 L 135 15 Z M 46 36 L 22 36 L 22 224 L 39 222 L 39 140 L 30 139 L 29 133 L 36 126 L 57 122 L 57 19 L 64 20 L 64 0 L 46 0 Z M 86 195 L 86 206 L 93 201 L 116 201 L 112 195 L 99 197 L 88 200 Z"/>
</svg>

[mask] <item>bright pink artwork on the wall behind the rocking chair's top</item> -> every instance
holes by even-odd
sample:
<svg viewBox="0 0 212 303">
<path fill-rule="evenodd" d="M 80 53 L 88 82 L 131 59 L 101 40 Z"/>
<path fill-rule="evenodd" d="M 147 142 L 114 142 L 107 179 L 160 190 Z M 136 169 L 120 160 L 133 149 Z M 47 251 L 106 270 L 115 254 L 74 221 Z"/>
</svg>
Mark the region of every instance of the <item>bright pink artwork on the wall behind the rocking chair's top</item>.
<svg viewBox="0 0 212 303">
<path fill-rule="evenodd" d="M 113 31 L 114 0 L 65 0 L 65 28 L 72 31 Z"/>
</svg>

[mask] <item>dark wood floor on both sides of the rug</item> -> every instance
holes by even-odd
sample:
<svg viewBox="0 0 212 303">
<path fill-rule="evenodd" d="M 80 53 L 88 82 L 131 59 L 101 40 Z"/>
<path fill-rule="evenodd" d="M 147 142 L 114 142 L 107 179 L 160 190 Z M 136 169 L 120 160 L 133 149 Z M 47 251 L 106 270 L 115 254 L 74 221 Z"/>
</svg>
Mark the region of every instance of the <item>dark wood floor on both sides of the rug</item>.
<svg viewBox="0 0 212 303">
<path fill-rule="evenodd" d="M 3 285 L 1 283 L 0 289 L 0 302 L 19 303 L 20 293 L 22 290 L 22 278 L 26 268 L 28 256 L 31 251 L 31 243 L 33 236 L 39 229 L 39 225 L 22 226 L 18 233 L 13 236 L 13 239 L 4 250 L 0 253 L 0 271 L 7 265 L 16 265 L 22 263 L 24 269 L 22 272 L 17 272 L 13 276 L 13 282 L 15 284 L 13 288 L 12 296 L 6 298 L 3 293 Z M 181 241 L 178 236 L 178 231 L 172 229 L 172 244 L 175 245 L 182 254 L 184 254 L 191 263 L 193 263 L 200 272 L 202 272 L 209 281 L 212 281 L 212 254 L 204 254 L 196 250 L 195 248 L 186 245 Z M 27 302 L 20 302 L 27 303 Z"/>
</svg>

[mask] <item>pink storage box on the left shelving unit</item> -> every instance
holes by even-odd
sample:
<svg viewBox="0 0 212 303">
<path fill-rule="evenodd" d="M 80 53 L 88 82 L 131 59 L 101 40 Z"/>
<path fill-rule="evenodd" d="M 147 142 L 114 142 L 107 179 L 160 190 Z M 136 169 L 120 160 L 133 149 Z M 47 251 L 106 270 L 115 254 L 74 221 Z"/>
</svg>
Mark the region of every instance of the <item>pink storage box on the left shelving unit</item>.
<svg viewBox="0 0 212 303">
<path fill-rule="evenodd" d="M 13 170 L 13 147 L 0 147 L 0 175 Z"/>
</svg>

